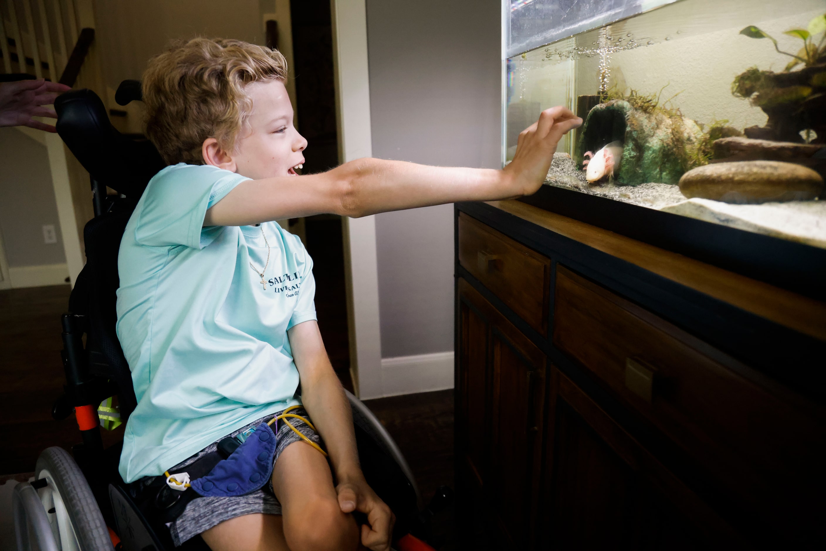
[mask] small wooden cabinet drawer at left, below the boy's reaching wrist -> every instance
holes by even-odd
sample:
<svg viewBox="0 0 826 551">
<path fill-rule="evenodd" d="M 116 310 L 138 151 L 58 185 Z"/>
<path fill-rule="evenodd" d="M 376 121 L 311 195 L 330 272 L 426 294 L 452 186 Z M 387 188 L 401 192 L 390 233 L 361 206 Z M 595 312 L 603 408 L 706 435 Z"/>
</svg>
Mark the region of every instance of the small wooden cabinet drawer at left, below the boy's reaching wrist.
<svg viewBox="0 0 826 551">
<path fill-rule="evenodd" d="M 548 332 L 551 261 L 459 213 L 459 264 L 542 335 Z"/>
</svg>

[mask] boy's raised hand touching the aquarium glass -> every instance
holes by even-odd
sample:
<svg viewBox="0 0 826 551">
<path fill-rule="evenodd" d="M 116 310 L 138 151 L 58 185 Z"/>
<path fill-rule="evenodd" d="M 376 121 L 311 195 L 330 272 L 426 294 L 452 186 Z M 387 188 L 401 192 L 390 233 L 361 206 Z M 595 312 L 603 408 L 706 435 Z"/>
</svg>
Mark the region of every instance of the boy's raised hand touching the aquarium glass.
<svg viewBox="0 0 826 551">
<path fill-rule="evenodd" d="M 524 195 L 535 193 L 548 175 L 559 140 L 579 126 L 582 119 L 565 107 L 551 107 L 540 113 L 539 121 L 520 133 L 514 159 L 504 169 L 515 178 L 515 188 L 523 189 Z"/>
</svg>

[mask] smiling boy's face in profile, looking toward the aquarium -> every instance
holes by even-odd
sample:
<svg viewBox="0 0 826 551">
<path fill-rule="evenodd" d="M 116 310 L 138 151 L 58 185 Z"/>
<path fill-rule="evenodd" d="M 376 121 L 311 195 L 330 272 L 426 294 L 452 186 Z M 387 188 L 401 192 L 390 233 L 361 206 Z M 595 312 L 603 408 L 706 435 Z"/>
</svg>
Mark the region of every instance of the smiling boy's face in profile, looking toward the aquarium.
<svg viewBox="0 0 826 551">
<path fill-rule="evenodd" d="M 253 101 L 253 112 L 232 155 L 236 172 L 254 180 L 297 176 L 295 169 L 304 163 L 301 152 L 307 140 L 292 126 L 287 88 L 281 81 L 271 80 L 249 84 L 246 91 Z"/>
</svg>

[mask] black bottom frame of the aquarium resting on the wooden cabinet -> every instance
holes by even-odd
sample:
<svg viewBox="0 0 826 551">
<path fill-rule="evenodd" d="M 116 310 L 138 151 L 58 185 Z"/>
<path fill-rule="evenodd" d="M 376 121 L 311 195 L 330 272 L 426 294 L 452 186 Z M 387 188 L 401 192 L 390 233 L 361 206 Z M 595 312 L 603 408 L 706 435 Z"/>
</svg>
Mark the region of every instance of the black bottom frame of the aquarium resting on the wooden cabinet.
<svg viewBox="0 0 826 551">
<path fill-rule="evenodd" d="M 826 249 L 548 185 L 519 201 L 826 300 Z"/>
</svg>

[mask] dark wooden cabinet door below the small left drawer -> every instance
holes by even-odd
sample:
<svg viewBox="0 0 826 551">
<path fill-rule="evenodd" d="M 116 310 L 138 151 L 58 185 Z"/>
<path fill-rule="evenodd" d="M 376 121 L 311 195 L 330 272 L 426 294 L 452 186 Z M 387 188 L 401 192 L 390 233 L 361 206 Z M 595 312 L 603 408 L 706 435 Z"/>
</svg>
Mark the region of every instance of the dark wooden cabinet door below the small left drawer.
<svg viewBox="0 0 826 551">
<path fill-rule="evenodd" d="M 539 492 L 545 356 L 462 279 L 458 300 L 458 506 L 474 511 L 458 511 L 459 533 L 487 534 L 475 544 L 483 548 L 525 549 Z"/>
</svg>

